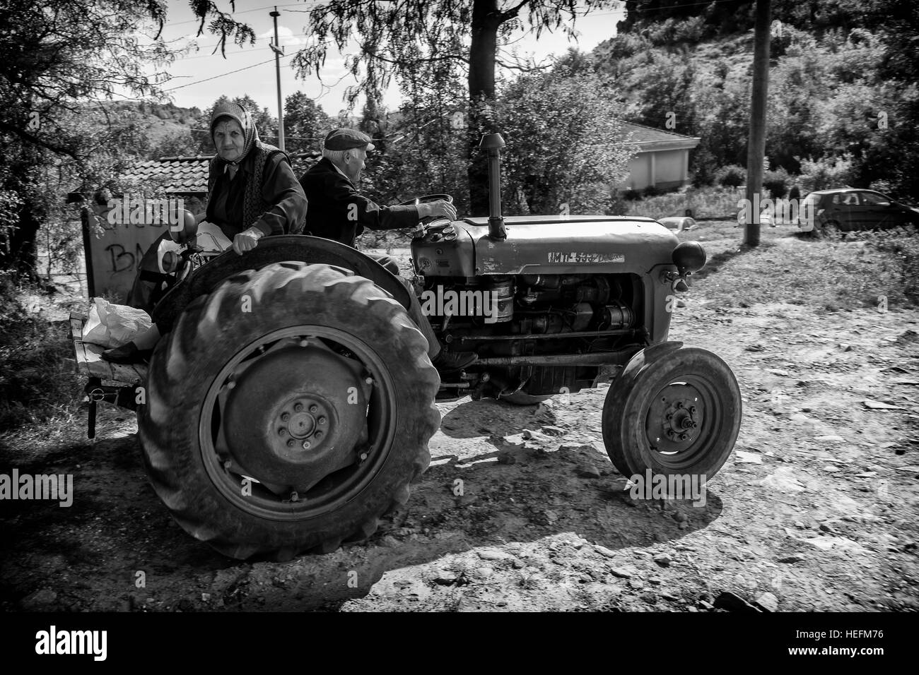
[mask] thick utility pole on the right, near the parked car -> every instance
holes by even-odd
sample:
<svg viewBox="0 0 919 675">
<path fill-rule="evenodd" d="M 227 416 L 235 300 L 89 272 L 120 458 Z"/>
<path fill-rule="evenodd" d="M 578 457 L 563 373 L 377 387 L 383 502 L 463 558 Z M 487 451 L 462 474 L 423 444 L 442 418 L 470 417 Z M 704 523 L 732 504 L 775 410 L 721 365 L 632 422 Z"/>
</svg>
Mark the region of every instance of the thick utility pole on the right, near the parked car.
<svg viewBox="0 0 919 675">
<path fill-rule="evenodd" d="M 749 209 L 743 243 L 759 245 L 759 199 L 763 191 L 763 156 L 766 154 L 766 102 L 769 95 L 770 0 L 756 0 L 754 28 L 753 99 L 750 106 L 750 136 L 747 141 L 747 191 Z"/>
</svg>

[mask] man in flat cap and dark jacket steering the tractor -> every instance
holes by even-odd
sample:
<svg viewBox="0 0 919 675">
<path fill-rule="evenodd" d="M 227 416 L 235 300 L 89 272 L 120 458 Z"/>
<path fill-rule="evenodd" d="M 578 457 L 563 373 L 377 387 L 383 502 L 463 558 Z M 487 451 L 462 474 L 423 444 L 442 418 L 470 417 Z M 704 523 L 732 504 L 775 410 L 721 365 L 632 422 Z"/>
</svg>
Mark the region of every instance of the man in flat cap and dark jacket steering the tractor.
<svg viewBox="0 0 919 675">
<path fill-rule="evenodd" d="M 357 190 L 360 172 L 364 170 L 367 152 L 373 150 L 369 136 L 355 129 L 333 129 L 323 143 L 323 159 L 315 163 L 300 178 L 303 192 L 310 208 L 306 214 L 305 231 L 316 237 L 334 239 L 354 247 L 355 238 L 364 229 L 402 230 L 414 228 L 418 221 L 429 216 L 442 216 L 455 220 L 456 208 L 447 201 L 419 204 L 410 207 L 380 206 Z M 373 256 L 391 273 L 398 275 L 399 267 L 389 256 Z M 440 348 L 414 295 L 412 285 L 400 277 L 409 289 L 412 304 L 409 315 L 425 335 L 427 355 L 441 373 L 457 371 L 476 359 L 472 352 L 446 352 Z"/>
</svg>

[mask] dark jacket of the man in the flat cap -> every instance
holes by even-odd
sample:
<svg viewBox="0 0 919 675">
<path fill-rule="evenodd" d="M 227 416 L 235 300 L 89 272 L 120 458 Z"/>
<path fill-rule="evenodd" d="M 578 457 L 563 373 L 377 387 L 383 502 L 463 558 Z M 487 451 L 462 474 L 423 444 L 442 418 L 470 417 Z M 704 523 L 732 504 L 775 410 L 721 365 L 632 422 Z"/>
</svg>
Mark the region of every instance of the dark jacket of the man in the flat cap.
<svg viewBox="0 0 919 675">
<path fill-rule="evenodd" d="M 310 210 L 305 231 L 348 246 L 364 229 L 400 230 L 418 224 L 417 207 L 381 207 L 357 192 L 335 164 L 323 157 L 301 175 L 300 184 Z"/>
</svg>

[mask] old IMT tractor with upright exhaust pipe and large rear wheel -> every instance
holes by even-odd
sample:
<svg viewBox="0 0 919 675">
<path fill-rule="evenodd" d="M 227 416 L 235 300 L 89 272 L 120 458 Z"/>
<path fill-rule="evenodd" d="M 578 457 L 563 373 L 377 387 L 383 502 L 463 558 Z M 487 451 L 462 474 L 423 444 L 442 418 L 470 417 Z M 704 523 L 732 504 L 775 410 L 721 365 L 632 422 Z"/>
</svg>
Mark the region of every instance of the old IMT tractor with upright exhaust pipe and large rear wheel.
<svg viewBox="0 0 919 675">
<path fill-rule="evenodd" d="M 445 349 L 478 354 L 445 381 L 406 288 L 338 242 L 266 238 L 166 293 L 153 319 L 172 330 L 139 432 L 153 488 L 189 534 L 274 559 L 368 537 L 427 467 L 435 402 L 466 395 L 526 405 L 611 379 L 603 439 L 621 474 L 711 478 L 724 464 L 737 381 L 718 356 L 667 341 L 702 248 L 646 218 L 503 218 L 503 145 L 482 139 L 491 216 L 426 223 L 412 244 L 419 294 L 479 309 L 429 317 Z"/>
</svg>

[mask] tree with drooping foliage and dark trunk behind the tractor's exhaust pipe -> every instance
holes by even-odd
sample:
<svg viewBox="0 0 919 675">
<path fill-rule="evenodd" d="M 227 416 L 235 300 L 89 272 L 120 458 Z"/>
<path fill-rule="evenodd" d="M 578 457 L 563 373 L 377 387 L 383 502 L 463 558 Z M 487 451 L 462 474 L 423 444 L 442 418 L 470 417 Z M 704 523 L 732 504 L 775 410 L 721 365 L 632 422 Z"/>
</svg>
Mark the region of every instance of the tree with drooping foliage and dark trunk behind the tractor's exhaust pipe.
<svg viewBox="0 0 919 675">
<path fill-rule="evenodd" d="M 357 81 L 347 93 L 352 107 L 361 94 L 379 98 L 393 75 L 418 73 L 433 82 L 437 70 L 466 73 L 469 132 L 464 153 L 471 159 L 471 209 L 483 214 L 488 207 L 487 169 L 477 151 L 478 131 L 498 130 L 487 124 L 495 68 L 531 67 L 505 62 L 501 48 L 521 32 L 539 37 L 543 30 L 562 30 L 573 37 L 577 17 L 616 6 L 617 0 L 329 0 L 310 10 L 304 32 L 312 42 L 293 63 L 301 77 L 318 76 L 330 48 L 346 52 L 357 41 L 357 53 L 345 63 Z M 207 11 L 202 14 L 207 16 Z"/>
</svg>

